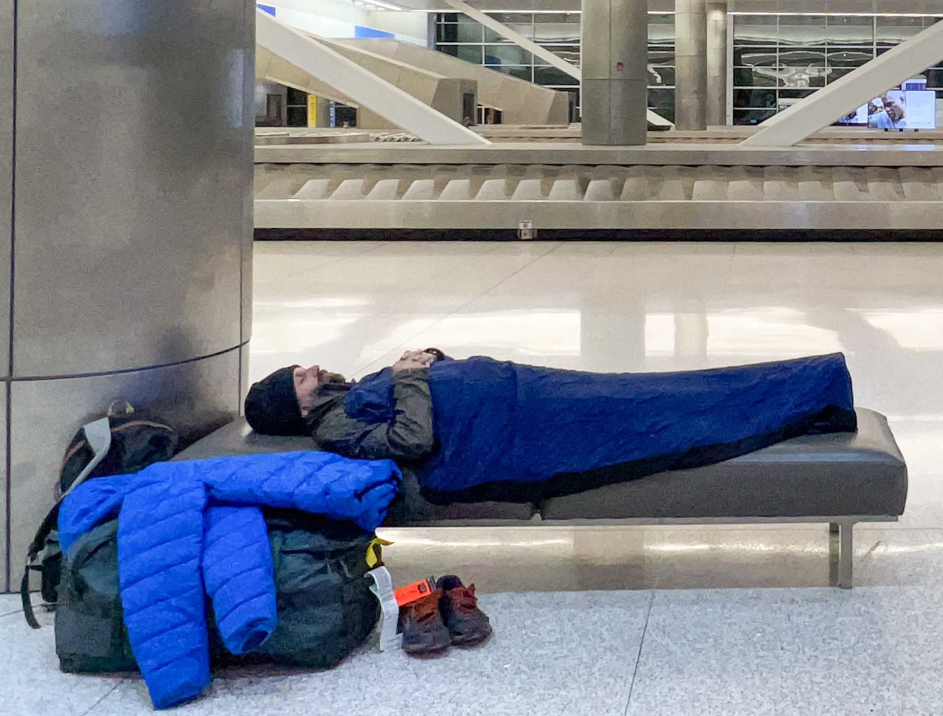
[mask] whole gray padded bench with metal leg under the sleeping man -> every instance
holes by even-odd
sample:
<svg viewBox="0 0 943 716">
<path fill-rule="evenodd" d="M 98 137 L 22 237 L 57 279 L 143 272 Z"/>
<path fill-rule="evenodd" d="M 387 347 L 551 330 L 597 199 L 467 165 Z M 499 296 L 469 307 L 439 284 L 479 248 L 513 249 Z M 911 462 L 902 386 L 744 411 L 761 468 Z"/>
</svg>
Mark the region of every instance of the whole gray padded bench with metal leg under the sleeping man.
<svg viewBox="0 0 943 716">
<path fill-rule="evenodd" d="M 856 409 L 857 432 L 804 435 L 723 463 L 609 484 L 542 504 L 433 505 L 414 475 L 390 506 L 385 527 L 664 525 L 827 522 L 839 532 L 839 587 L 852 587 L 852 529 L 896 522 L 907 498 L 907 467 L 887 419 Z M 307 437 L 259 435 L 229 423 L 174 460 L 311 449 Z"/>
</svg>

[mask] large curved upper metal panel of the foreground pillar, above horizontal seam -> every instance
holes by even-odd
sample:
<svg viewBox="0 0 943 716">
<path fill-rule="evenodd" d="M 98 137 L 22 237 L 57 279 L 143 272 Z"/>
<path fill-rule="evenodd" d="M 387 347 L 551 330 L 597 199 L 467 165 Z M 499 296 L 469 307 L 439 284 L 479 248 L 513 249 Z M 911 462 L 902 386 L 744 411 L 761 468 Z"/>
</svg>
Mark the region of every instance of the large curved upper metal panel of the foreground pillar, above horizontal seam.
<svg viewBox="0 0 943 716">
<path fill-rule="evenodd" d="M 15 375 L 238 345 L 253 9 L 20 5 Z"/>
</svg>

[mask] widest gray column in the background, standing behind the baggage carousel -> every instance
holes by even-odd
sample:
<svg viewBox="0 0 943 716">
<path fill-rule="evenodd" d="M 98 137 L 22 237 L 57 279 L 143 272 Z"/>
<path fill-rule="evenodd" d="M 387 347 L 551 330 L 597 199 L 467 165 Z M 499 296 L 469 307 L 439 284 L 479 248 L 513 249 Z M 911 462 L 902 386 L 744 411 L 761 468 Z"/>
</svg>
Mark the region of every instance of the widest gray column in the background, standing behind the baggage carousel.
<svg viewBox="0 0 943 716">
<path fill-rule="evenodd" d="M 583 143 L 644 144 L 647 0 L 583 0 L 582 36 Z"/>
</svg>

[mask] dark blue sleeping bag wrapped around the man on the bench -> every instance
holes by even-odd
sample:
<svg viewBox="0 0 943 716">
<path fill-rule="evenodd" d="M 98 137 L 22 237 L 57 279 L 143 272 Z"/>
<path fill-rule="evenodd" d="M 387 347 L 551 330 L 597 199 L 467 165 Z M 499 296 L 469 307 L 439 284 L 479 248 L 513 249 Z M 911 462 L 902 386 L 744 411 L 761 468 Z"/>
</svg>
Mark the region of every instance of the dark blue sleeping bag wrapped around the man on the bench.
<svg viewBox="0 0 943 716">
<path fill-rule="evenodd" d="M 475 357 L 439 361 L 429 372 L 438 446 L 417 478 L 439 504 L 539 501 L 718 463 L 810 431 L 856 430 L 840 353 L 675 373 Z M 344 409 L 389 421 L 393 404 L 386 368 L 356 383 Z"/>
</svg>

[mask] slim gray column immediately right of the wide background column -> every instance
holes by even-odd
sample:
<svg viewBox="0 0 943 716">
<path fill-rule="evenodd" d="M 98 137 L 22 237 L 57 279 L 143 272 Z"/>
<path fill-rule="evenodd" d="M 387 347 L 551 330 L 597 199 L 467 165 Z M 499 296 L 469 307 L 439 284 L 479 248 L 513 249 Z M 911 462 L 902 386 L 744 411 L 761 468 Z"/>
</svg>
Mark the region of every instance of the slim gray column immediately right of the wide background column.
<svg viewBox="0 0 943 716">
<path fill-rule="evenodd" d="M 707 128 L 705 0 L 674 0 L 674 125 Z"/>
</svg>

